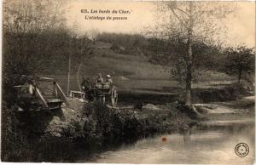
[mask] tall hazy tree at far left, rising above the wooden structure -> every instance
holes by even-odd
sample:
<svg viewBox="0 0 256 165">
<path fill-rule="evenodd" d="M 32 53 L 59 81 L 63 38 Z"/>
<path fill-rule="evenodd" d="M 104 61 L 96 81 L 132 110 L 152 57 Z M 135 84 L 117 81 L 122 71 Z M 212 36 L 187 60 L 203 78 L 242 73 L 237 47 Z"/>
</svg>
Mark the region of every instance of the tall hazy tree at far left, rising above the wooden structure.
<svg viewBox="0 0 256 165">
<path fill-rule="evenodd" d="M 53 31 L 65 25 L 61 1 L 10 0 L 3 3 L 3 100 L 13 101 L 21 75 L 34 75 L 52 58 Z M 51 41 L 50 41 L 51 40 Z"/>
</svg>

